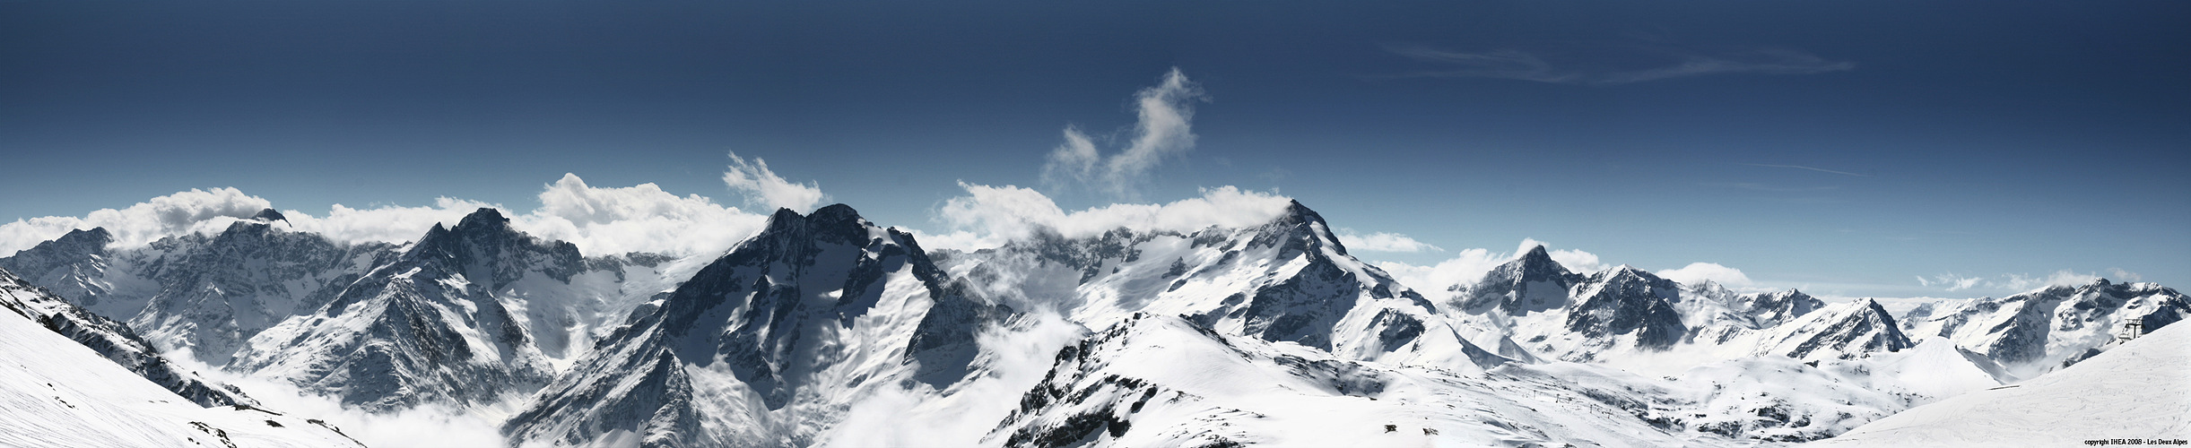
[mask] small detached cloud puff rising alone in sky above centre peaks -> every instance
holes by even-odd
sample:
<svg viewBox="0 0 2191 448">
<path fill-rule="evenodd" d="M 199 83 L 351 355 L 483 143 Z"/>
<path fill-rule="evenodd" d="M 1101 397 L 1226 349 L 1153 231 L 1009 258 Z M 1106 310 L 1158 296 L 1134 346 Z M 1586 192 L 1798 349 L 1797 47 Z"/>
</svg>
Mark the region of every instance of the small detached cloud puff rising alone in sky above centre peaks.
<svg viewBox="0 0 2191 448">
<path fill-rule="evenodd" d="M 1135 96 L 1139 120 L 1133 138 L 1120 153 L 1104 157 L 1096 140 L 1080 127 L 1065 127 L 1065 142 L 1049 151 L 1043 164 L 1043 184 L 1060 188 L 1067 184 L 1091 186 L 1117 199 L 1135 199 L 1133 186 L 1142 184 L 1163 160 L 1194 149 L 1194 101 L 1205 101 L 1203 90 L 1172 68 L 1155 87 Z"/>
</svg>

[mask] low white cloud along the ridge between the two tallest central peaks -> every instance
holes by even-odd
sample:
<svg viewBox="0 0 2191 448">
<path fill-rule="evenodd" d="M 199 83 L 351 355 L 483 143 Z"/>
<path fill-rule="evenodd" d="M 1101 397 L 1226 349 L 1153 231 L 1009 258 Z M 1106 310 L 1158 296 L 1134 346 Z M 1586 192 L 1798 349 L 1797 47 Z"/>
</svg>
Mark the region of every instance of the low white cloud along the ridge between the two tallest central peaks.
<svg viewBox="0 0 2191 448">
<path fill-rule="evenodd" d="M 1172 203 L 1111 203 L 1065 212 L 1043 192 L 1019 186 L 977 186 L 960 181 L 966 197 L 947 199 L 936 210 L 944 234 L 918 236 L 925 247 L 986 249 L 1006 240 L 1052 229 L 1069 238 L 1096 236 L 1128 227 L 1135 232 L 1196 232 L 1209 225 L 1262 225 L 1286 212 L 1288 197 L 1240 190 L 1234 186 L 1203 188 L 1203 197 Z"/>
</svg>

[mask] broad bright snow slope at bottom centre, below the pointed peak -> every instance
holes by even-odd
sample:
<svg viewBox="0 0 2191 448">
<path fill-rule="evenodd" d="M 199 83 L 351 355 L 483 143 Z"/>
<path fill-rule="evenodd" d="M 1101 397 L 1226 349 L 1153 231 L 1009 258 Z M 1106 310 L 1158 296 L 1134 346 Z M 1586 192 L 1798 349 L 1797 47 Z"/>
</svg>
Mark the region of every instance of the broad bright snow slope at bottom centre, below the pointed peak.
<svg viewBox="0 0 2191 448">
<path fill-rule="evenodd" d="M 1588 369 L 1588 367 L 1582 367 Z M 1058 352 L 993 446 L 1722 446 L 1575 391 L 1558 374 L 1332 358 L 1181 317 L 1126 321 Z"/>
</svg>

